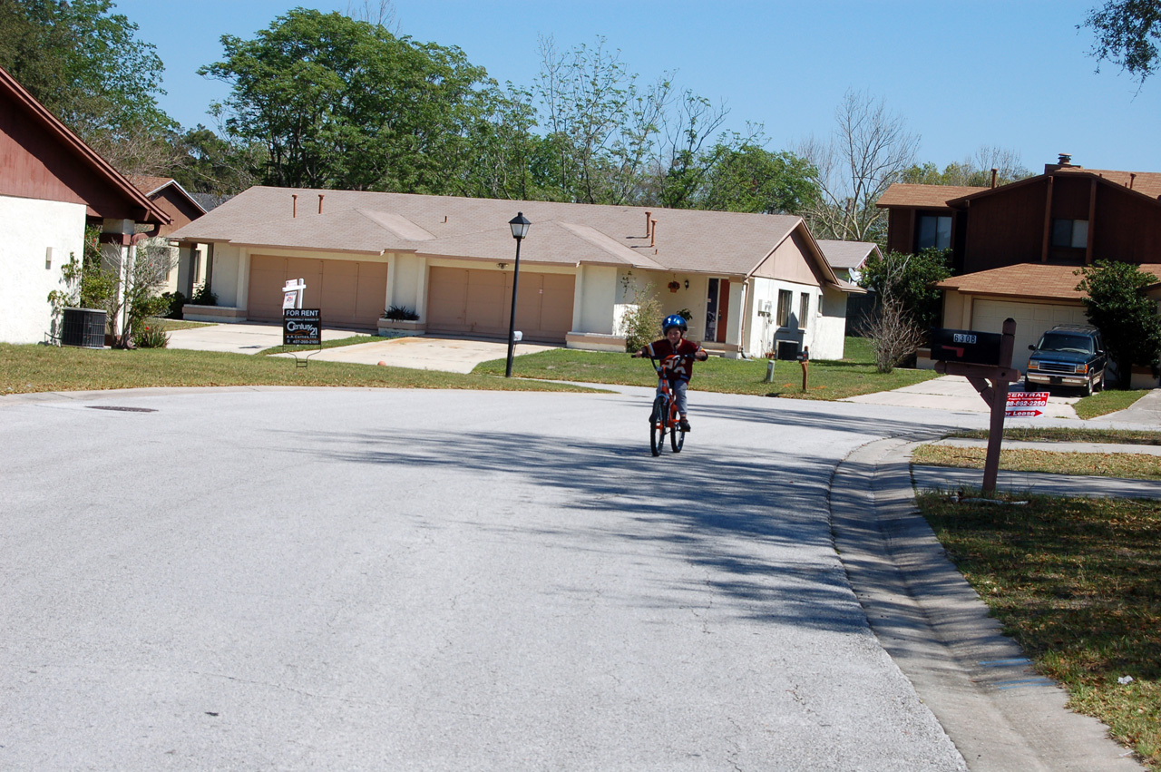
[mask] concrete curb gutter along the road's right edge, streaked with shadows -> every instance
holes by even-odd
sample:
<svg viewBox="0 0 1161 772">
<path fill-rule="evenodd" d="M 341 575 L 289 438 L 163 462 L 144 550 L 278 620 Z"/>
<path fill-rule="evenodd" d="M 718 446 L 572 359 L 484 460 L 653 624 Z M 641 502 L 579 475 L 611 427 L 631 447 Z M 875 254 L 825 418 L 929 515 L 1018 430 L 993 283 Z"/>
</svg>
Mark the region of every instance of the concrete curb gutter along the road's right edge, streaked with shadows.
<svg viewBox="0 0 1161 772">
<path fill-rule="evenodd" d="M 1066 708 L 947 558 L 915 508 L 916 445 L 865 445 L 830 486 L 835 546 L 884 649 L 971 770 L 1144 769 L 1104 724 Z"/>
</svg>

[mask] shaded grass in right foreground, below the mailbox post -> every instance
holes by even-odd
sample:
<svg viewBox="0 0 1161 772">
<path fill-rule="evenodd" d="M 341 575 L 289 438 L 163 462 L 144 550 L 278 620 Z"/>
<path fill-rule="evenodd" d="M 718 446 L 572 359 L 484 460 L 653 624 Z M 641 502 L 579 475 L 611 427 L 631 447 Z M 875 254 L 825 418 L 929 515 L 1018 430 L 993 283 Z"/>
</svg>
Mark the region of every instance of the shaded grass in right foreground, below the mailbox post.
<svg viewBox="0 0 1161 772">
<path fill-rule="evenodd" d="M 1021 499 L 916 500 L 1004 632 L 1068 690 L 1070 707 L 1161 770 L 1161 502 Z"/>
</svg>

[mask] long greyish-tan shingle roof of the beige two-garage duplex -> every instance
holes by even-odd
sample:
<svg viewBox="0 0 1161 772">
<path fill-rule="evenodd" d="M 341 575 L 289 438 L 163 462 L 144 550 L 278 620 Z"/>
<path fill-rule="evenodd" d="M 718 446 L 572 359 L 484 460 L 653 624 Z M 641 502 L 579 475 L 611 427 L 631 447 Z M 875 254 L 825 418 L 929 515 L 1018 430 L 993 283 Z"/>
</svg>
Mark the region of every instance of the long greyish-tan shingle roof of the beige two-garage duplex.
<svg viewBox="0 0 1161 772">
<path fill-rule="evenodd" d="M 517 211 L 533 223 L 521 244 L 520 259 L 527 262 L 748 276 L 801 230 L 820 274 L 838 286 L 802 218 L 788 215 L 253 187 L 172 238 L 509 261 L 515 248 L 507 222 Z M 647 212 L 657 221 L 652 238 Z"/>
</svg>

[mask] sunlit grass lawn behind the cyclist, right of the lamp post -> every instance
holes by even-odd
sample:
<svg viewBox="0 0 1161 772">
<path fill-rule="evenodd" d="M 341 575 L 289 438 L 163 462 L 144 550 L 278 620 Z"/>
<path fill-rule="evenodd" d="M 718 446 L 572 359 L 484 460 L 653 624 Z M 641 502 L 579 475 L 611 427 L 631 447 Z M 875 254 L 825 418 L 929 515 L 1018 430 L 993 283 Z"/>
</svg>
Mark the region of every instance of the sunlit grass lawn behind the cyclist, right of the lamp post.
<svg viewBox="0 0 1161 772">
<path fill-rule="evenodd" d="M 846 339 L 846 356 L 841 361 L 814 361 L 808 366 L 807 390 L 802 391 L 802 367 L 798 362 L 774 365 L 774 380 L 765 383 L 766 360 L 730 360 L 712 356 L 693 368 L 691 389 L 724 394 L 751 394 L 801 399 L 842 399 L 860 394 L 888 391 L 937 377 L 933 370 L 895 369 L 875 373 L 870 346 L 861 338 Z M 505 360 L 477 366 L 474 373 L 502 375 Z M 527 354 L 513 362 L 512 375 L 524 378 L 550 378 L 582 383 L 652 385 L 657 382 L 649 360 L 628 354 L 585 352 L 565 348 Z"/>
</svg>

